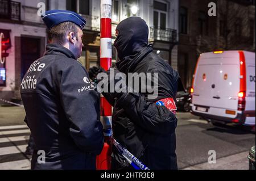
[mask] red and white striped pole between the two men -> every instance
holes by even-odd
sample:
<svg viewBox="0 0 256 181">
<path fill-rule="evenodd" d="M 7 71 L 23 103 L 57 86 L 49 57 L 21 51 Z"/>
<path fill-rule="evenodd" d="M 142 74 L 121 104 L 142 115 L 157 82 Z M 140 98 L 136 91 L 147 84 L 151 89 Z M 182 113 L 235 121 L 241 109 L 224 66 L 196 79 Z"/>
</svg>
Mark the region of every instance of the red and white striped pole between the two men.
<svg viewBox="0 0 256 181">
<path fill-rule="evenodd" d="M 112 0 L 101 0 L 101 67 L 109 70 L 112 66 Z M 101 95 L 101 123 L 104 127 L 104 148 L 97 157 L 97 170 L 111 169 L 112 106 Z"/>
</svg>

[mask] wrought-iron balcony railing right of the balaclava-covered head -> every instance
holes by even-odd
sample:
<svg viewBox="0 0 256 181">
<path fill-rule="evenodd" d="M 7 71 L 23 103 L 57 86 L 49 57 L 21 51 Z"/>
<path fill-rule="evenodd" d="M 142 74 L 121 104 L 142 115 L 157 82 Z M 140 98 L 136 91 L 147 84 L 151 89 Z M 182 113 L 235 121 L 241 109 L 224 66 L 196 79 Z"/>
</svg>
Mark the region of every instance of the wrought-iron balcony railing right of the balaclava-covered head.
<svg viewBox="0 0 256 181">
<path fill-rule="evenodd" d="M 176 43 L 177 41 L 177 31 L 169 28 L 155 28 L 150 27 L 150 40 L 160 40 Z"/>
</svg>

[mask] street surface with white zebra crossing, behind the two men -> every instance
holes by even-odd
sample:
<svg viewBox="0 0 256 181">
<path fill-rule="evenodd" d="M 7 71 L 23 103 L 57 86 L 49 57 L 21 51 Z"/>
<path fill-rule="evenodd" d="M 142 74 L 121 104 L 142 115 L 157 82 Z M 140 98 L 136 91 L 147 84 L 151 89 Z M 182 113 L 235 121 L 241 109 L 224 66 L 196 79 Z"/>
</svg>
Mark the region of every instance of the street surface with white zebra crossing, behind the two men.
<svg viewBox="0 0 256 181">
<path fill-rule="evenodd" d="M 22 107 L 0 107 L 0 169 L 30 169 L 30 157 L 24 154 L 30 131 L 23 123 Z M 179 169 L 247 170 L 247 154 L 255 144 L 255 133 L 244 127 L 215 127 L 188 112 L 178 112 L 177 163 Z M 209 164 L 209 150 L 217 161 Z"/>
</svg>

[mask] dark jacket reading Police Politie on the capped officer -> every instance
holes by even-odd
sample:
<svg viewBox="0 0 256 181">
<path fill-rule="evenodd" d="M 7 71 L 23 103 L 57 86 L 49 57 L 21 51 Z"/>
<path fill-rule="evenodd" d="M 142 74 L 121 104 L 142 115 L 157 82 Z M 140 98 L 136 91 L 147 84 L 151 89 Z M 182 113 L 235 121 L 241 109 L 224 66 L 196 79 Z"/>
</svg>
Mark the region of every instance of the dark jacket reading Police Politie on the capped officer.
<svg viewBox="0 0 256 181">
<path fill-rule="evenodd" d="M 73 53 L 48 44 L 20 92 L 36 146 L 31 169 L 95 169 L 104 144 L 100 99 Z"/>
</svg>

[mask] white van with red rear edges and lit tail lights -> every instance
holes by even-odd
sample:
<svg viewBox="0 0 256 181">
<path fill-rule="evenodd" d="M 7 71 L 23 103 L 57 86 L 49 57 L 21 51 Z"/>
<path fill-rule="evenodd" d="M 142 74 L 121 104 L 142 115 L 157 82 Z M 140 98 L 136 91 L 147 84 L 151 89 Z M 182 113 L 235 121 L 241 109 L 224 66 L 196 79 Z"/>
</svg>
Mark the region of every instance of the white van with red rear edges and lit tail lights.
<svg viewBox="0 0 256 181">
<path fill-rule="evenodd" d="M 194 115 L 213 123 L 255 128 L 255 53 L 230 50 L 201 54 L 191 93 Z"/>
</svg>

